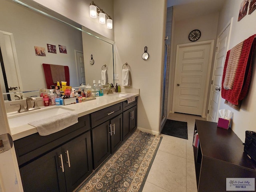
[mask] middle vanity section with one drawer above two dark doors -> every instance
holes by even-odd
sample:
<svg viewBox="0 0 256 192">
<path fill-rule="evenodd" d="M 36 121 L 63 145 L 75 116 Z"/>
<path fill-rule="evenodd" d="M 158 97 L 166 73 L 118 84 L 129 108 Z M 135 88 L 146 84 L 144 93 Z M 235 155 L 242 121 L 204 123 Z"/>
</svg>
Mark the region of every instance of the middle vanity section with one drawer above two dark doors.
<svg viewBox="0 0 256 192">
<path fill-rule="evenodd" d="M 122 103 L 94 112 L 91 118 L 94 126 L 105 120 L 92 128 L 94 169 L 96 169 L 122 144 Z"/>
</svg>

